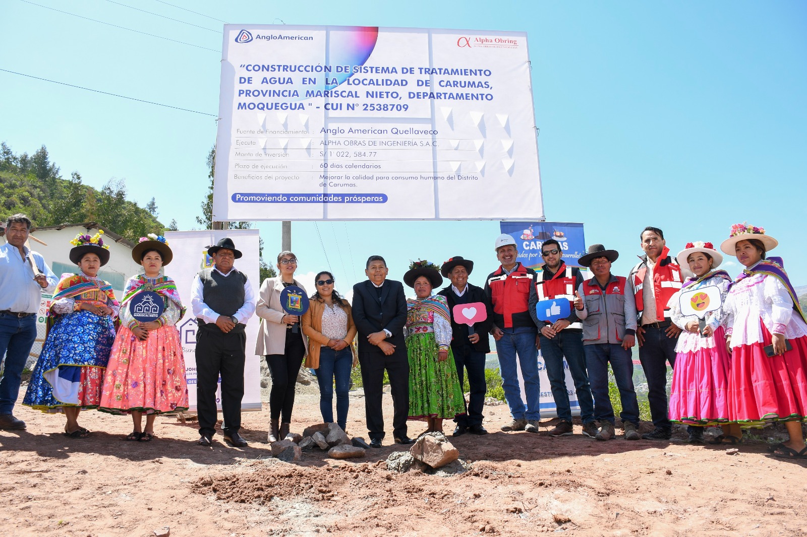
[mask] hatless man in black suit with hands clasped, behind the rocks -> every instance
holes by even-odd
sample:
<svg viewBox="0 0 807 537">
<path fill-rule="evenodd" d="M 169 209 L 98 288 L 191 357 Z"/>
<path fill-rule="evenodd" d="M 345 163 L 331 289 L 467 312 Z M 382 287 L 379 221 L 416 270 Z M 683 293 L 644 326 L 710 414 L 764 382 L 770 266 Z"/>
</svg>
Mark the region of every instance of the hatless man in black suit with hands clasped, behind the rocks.
<svg viewBox="0 0 807 537">
<path fill-rule="evenodd" d="M 406 435 L 409 414 L 409 360 L 403 343 L 406 297 L 399 281 L 387 280 L 387 262 L 370 256 L 367 281 L 353 285 L 353 323 L 358 329 L 358 362 L 362 366 L 364 405 L 370 448 L 381 448 L 384 416 L 381 407 L 384 369 L 390 378 L 392 435 L 395 443 L 412 443 Z"/>
</svg>

